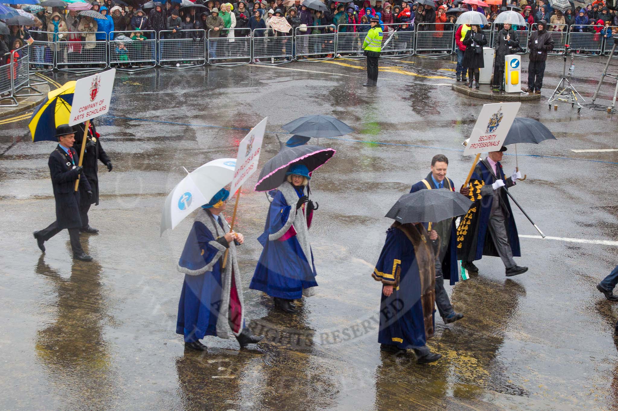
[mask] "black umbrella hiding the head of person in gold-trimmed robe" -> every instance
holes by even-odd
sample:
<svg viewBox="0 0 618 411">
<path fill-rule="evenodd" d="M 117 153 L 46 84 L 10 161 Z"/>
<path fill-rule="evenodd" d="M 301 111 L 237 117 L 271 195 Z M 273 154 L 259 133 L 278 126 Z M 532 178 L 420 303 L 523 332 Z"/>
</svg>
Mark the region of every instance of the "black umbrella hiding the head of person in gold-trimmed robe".
<svg viewBox="0 0 618 411">
<path fill-rule="evenodd" d="M 401 224 L 438 222 L 463 216 L 471 205 L 470 198 L 449 189 L 418 190 L 399 197 L 384 217 L 392 218 Z"/>
</svg>

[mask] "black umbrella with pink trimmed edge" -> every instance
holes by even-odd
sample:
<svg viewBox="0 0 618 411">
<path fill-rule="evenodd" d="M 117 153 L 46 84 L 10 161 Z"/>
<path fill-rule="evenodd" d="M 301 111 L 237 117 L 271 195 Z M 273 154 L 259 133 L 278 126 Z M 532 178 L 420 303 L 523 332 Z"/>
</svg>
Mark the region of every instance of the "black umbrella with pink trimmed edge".
<svg viewBox="0 0 618 411">
<path fill-rule="evenodd" d="M 266 161 L 255 191 L 274 190 L 286 180 L 290 165 L 300 163 L 309 169 L 309 172 L 324 165 L 334 155 L 335 149 L 324 149 L 319 145 L 299 145 L 298 147 L 284 147 L 273 158 Z M 469 200 L 468 200 L 469 201 Z"/>
</svg>

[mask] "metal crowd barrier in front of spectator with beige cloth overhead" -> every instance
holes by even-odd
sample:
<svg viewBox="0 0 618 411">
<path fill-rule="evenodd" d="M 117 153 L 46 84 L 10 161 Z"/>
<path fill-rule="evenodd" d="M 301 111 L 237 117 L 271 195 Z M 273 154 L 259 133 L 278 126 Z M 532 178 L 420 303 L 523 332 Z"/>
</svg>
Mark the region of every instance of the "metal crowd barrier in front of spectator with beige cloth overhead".
<svg viewBox="0 0 618 411">
<path fill-rule="evenodd" d="M 294 37 L 268 28 L 253 30 L 253 62 L 279 65 L 292 61 Z"/>
</svg>

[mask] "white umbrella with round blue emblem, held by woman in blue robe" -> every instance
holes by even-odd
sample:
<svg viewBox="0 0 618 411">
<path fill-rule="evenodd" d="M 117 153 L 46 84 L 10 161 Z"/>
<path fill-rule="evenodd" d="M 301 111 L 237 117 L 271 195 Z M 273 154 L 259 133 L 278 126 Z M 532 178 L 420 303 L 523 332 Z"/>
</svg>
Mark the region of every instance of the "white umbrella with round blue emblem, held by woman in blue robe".
<svg viewBox="0 0 618 411">
<path fill-rule="evenodd" d="M 232 181 L 235 158 L 219 158 L 188 173 L 167 195 L 161 213 L 161 235 L 174 229 L 180 221 L 213 198 Z"/>
</svg>

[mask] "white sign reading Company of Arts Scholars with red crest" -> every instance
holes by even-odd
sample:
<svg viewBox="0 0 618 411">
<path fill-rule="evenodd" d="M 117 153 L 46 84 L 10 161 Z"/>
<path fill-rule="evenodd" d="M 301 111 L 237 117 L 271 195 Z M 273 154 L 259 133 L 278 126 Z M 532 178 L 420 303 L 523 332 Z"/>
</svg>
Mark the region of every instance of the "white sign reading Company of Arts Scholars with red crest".
<svg viewBox="0 0 618 411">
<path fill-rule="evenodd" d="M 69 126 L 109 112 L 116 68 L 80 78 L 75 83 Z"/>
</svg>

